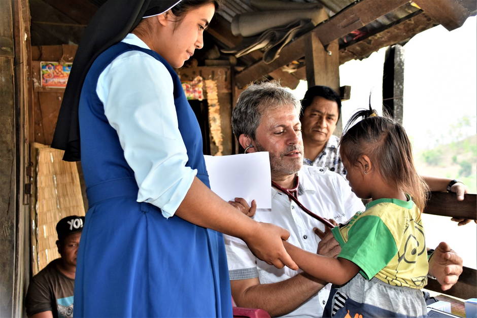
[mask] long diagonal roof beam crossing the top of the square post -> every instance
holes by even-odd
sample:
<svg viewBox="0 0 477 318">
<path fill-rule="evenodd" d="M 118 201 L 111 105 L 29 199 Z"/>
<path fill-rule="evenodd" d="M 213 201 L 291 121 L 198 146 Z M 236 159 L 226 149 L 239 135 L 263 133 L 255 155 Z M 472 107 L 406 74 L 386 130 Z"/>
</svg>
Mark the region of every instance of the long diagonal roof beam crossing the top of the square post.
<svg viewBox="0 0 477 318">
<path fill-rule="evenodd" d="M 331 41 L 345 36 L 349 32 L 376 20 L 407 2 L 407 0 L 363 0 L 355 2 L 328 20 L 318 24 L 312 31 L 317 33 L 322 45 L 326 46 Z M 236 75 L 238 87 L 243 87 L 247 83 L 302 57 L 304 55 L 306 37 L 308 37 L 308 33 L 303 34 L 303 36 L 288 44 L 280 52 L 280 57 L 270 64 L 260 61 L 238 73 Z"/>
</svg>

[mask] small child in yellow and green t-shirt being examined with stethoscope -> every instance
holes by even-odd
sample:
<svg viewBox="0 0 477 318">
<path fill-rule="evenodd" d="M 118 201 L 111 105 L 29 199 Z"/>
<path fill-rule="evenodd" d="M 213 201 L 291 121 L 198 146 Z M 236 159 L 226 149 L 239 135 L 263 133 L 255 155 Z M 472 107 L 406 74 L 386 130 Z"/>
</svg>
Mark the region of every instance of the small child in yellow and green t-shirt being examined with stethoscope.
<svg viewBox="0 0 477 318">
<path fill-rule="evenodd" d="M 337 259 L 285 247 L 302 270 L 339 285 L 328 299 L 328 315 L 425 316 L 421 210 L 427 188 L 402 126 L 370 109 L 352 116 L 347 127 L 359 117 L 342 137 L 340 155 L 353 192 L 372 201 L 348 224 L 332 229 L 342 248 Z"/>
</svg>

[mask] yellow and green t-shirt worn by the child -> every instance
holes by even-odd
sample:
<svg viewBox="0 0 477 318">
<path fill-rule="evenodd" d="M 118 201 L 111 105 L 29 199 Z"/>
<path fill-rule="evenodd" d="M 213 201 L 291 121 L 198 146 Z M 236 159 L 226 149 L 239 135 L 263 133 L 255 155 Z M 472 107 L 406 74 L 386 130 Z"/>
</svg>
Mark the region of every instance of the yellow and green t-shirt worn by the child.
<svg viewBox="0 0 477 318">
<path fill-rule="evenodd" d="M 358 265 L 366 279 L 420 289 L 429 269 L 424 228 L 419 208 L 407 197 L 374 200 L 332 232 L 342 248 L 338 257 Z"/>
</svg>

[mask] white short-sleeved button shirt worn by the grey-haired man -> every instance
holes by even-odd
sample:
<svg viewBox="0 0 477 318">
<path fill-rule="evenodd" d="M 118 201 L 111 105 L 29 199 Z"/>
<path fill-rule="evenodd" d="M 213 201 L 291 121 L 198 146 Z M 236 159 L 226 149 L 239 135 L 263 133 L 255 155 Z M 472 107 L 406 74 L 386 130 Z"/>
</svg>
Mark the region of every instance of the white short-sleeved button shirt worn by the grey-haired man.
<svg viewBox="0 0 477 318">
<path fill-rule="evenodd" d="M 346 223 L 357 211 L 364 210 L 363 203 L 351 191 L 343 176 L 327 171 L 327 168 L 303 166 L 298 171 L 298 179 L 298 200 L 303 206 L 325 219 L 334 219 L 338 224 Z M 253 219 L 287 229 L 290 232 L 288 242 L 313 253 L 317 252 L 320 241 L 313 228 L 325 230 L 320 221 L 310 217 L 286 194 L 275 188 L 271 188 L 271 209 L 257 209 Z M 278 269 L 257 259 L 239 238 L 224 235 L 224 240 L 230 280 L 258 277 L 260 284 L 270 284 L 291 278 L 301 272 L 288 267 Z M 329 289 L 328 284 L 317 295 L 285 316 L 321 317 L 328 300 Z"/>
</svg>

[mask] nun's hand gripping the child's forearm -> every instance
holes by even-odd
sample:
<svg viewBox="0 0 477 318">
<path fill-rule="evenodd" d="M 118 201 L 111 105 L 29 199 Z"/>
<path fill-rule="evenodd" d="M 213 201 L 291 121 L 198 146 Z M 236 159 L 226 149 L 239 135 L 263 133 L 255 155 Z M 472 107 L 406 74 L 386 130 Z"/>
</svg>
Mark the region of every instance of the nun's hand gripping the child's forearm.
<svg viewBox="0 0 477 318">
<path fill-rule="evenodd" d="M 298 266 L 283 246 L 282 240 L 287 240 L 289 236 L 290 233 L 279 226 L 257 222 L 257 228 L 243 240 L 249 246 L 250 251 L 267 264 L 277 268 L 288 266 L 297 270 Z"/>
</svg>

